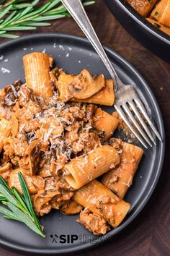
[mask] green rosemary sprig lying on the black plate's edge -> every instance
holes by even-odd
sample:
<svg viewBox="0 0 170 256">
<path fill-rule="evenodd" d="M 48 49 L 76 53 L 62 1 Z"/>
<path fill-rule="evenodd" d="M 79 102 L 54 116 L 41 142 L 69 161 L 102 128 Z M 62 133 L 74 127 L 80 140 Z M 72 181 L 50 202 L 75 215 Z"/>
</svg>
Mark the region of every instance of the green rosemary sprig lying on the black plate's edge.
<svg viewBox="0 0 170 256">
<path fill-rule="evenodd" d="M 0 213 L 4 214 L 4 218 L 25 223 L 32 231 L 45 237 L 40 221 L 35 215 L 30 193 L 28 192 L 27 184 L 24 182 L 24 177 L 21 172 L 18 173 L 18 176 L 23 195 L 21 195 L 15 187 L 10 189 L 5 180 L 0 176 L 0 201 L 9 208 L 0 206 Z"/>
</svg>

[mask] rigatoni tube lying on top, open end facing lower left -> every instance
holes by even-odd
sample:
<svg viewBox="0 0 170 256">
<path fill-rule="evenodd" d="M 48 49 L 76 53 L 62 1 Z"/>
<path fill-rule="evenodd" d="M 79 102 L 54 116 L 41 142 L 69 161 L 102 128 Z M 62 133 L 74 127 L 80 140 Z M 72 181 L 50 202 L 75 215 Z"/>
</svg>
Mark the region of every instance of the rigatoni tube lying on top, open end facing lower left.
<svg viewBox="0 0 170 256">
<path fill-rule="evenodd" d="M 109 145 L 92 150 L 88 155 L 74 158 L 64 166 L 66 182 L 74 189 L 79 189 L 92 179 L 109 171 L 120 162 L 115 148 Z"/>
</svg>

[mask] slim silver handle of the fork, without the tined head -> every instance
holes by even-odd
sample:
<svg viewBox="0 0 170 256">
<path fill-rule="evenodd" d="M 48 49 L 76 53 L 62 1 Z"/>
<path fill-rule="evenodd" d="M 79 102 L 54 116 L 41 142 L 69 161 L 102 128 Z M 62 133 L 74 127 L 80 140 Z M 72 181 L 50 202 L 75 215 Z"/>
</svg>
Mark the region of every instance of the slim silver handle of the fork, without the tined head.
<svg viewBox="0 0 170 256">
<path fill-rule="evenodd" d="M 109 58 L 107 57 L 107 54 L 105 53 L 104 48 L 102 47 L 102 44 L 100 43 L 99 38 L 97 37 L 97 34 L 95 33 L 94 28 L 92 27 L 91 22 L 87 17 L 87 14 L 84 10 L 83 5 L 81 4 L 81 1 L 61 0 L 61 2 L 66 7 L 68 12 L 71 14 L 73 19 L 76 20 L 77 24 L 79 25 L 79 27 L 81 27 L 81 30 L 89 39 L 92 46 L 94 46 L 95 50 L 97 51 L 97 54 L 99 54 L 99 56 L 101 57 L 102 61 L 104 62 L 104 65 L 107 67 L 107 70 L 109 71 L 109 74 L 115 82 L 116 91 L 117 80 L 119 80 L 119 78 L 117 77 L 115 69 L 112 67 L 111 62 L 109 61 Z"/>
</svg>

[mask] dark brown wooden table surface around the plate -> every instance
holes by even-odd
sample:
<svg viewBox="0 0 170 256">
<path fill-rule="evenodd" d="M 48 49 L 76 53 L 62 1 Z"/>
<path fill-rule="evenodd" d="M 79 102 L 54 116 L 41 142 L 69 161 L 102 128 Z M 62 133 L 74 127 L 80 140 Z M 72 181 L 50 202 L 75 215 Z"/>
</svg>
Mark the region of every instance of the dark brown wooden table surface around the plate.
<svg viewBox="0 0 170 256">
<path fill-rule="evenodd" d="M 166 156 L 158 185 L 138 218 L 111 242 L 77 256 L 168 256 L 170 255 L 170 64 L 159 59 L 129 35 L 109 12 L 103 0 L 87 10 L 99 39 L 128 59 L 145 77 L 158 101 L 166 129 Z M 41 32 L 84 35 L 71 19 L 56 20 Z M 27 32 L 30 33 L 30 32 Z M 20 33 L 25 35 L 26 33 Z M 0 39 L 0 43 L 5 42 Z M 0 256 L 16 256 L 0 248 Z"/>
</svg>

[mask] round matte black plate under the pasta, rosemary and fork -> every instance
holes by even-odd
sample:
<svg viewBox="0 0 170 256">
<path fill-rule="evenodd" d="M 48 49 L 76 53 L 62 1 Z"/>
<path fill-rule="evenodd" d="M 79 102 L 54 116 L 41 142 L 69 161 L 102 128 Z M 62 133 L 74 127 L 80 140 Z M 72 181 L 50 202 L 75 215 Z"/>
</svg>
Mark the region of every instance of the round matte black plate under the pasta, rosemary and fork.
<svg viewBox="0 0 170 256">
<path fill-rule="evenodd" d="M 73 35 L 37 34 L 12 40 L 0 46 L 0 56 L 1 54 L 4 56 L 4 59 L 0 61 L 1 87 L 18 78 L 24 80 L 22 56 L 31 51 L 43 51 L 44 49 L 46 53 L 54 56 L 58 67 L 63 67 L 68 73 L 78 74 L 81 69 L 85 68 L 89 69 L 92 74 L 104 73 L 106 77 L 109 77 L 104 64 L 88 40 Z M 156 121 L 164 141 L 164 124 L 161 113 L 146 81 L 119 54 L 109 48 L 105 48 L 105 50 L 122 81 L 134 85 L 146 106 L 150 106 L 152 117 Z M 1 67 L 9 69 L 11 72 L 2 74 Z M 104 109 L 110 112 L 113 110 L 112 107 Z M 63 216 L 63 214 L 53 210 L 41 219 L 42 225 L 45 227 L 45 239 L 34 234 L 22 223 L 1 218 L 0 244 L 22 252 L 50 255 L 76 252 L 102 243 L 125 229 L 146 205 L 158 182 L 163 161 L 164 142 L 157 141 L 156 147 L 145 150 L 133 186 L 125 197 L 125 200 L 132 205 L 130 213 L 117 229 L 112 229 L 107 235 L 95 239 L 96 236 L 91 235 L 83 226 L 76 223 L 78 216 Z M 71 235 L 76 235 L 78 240 L 73 241 L 73 243 L 68 242 L 68 240 L 66 243 L 61 243 L 63 241 L 62 236 L 57 238 L 55 234 L 66 236 L 67 239 L 68 237 L 71 238 Z M 76 236 L 72 237 L 75 238 Z"/>
</svg>

